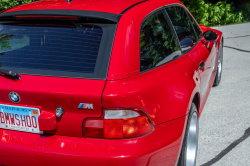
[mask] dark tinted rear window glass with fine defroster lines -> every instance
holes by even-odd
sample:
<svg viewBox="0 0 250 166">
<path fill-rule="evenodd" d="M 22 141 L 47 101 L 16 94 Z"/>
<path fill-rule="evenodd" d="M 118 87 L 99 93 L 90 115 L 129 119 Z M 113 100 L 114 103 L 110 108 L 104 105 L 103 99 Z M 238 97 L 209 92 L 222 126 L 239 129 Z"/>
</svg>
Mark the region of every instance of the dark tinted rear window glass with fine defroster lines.
<svg viewBox="0 0 250 166">
<path fill-rule="evenodd" d="M 81 22 L 0 22 L 0 67 L 20 74 L 104 78 L 111 47 L 107 41 L 101 47 L 105 29 Z"/>
</svg>

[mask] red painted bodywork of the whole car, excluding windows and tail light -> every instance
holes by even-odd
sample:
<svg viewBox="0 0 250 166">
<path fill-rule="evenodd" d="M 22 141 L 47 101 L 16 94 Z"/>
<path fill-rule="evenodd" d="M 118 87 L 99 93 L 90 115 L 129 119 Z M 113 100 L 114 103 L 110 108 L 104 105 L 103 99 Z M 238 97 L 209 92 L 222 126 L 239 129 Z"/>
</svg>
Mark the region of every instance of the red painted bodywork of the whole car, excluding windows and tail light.
<svg viewBox="0 0 250 166">
<path fill-rule="evenodd" d="M 0 77 L 1 104 L 39 108 L 41 116 L 51 119 L 40 129 L 56 129 L 48 134 L 33 134 L 0 129 L 0 165 L 140 165 L 173 166 L 178 162 L 191 104 L 199 116 L 216 76 L 218 51 L 210 42 L 209 51 L 202 41 L 187 54 L 153 70 L 140 73 L 140 28 L 154 10 L 177 0 L 42 0 L 5 11 L 64 9 L 120 14 L 113 41 L 106 79 L 78 79 L 21 74 L 15 81 Z M 138 3 L 138 4 L 137 4 Z M 137 4 L 137 5 L 135 5 Z M 200 25 L 203 32 L 212 30 Z M 219 48 L 219 47 L 218 47 Z M 203 70 L 200 62 L 205 62 Z M 15 104 L 11 91 L 21 96 Z M 92 103 L 93 111 L 79 111 L 81 102 Z M 55 109 L 65 115 L 55 123 Z M 86 118 L 100 118 L 103 109 L 139 108 L 153 123 L 153 131 L 132 139 L 88 139 L 83 137 Z"/>
</svg>

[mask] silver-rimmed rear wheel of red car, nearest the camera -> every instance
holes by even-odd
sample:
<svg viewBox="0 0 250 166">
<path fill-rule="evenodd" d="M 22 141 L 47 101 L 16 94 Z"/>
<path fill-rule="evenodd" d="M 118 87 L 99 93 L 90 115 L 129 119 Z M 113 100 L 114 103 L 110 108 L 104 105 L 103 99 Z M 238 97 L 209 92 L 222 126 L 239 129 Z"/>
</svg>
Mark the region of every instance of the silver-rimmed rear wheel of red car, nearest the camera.
<svg viewBox="0 0 250 166">
<path fill-rule="evenodd" d="M 197 108 L 195 104 L 192 103 L 186 126 L 185 137 L 182 144 L 181 154 L 178 161 L 178 166 L 196 165 L 198 133 L 199 133 L 199 124 L 198 124 Z"/>
</svg>

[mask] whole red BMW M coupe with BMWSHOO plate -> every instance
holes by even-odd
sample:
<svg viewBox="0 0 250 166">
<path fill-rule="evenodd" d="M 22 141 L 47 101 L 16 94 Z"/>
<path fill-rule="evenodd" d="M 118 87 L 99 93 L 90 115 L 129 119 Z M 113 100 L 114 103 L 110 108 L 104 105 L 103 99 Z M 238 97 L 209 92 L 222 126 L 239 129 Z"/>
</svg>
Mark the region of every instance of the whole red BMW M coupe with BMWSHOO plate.
<svg viewBox="0 0 250 166">
<path fill-rule="evenodd" d="M 178 0 L 0 13 L 0 165 L 194 166 L 223 37 Z"/>
</svg>

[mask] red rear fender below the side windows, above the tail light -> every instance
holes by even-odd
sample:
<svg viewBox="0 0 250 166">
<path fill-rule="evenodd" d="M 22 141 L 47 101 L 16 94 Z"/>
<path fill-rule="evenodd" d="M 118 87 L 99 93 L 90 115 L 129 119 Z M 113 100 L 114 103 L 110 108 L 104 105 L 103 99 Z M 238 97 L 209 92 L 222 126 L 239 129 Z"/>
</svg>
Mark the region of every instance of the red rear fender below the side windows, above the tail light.
<svg viewBox="0 0 250 166">
<path fill-rule="evenodd" d="M 103 107 L 143 109 L 155 125 L 185 116 L 199 90 L 194 69 L 193 62 L 182 56 L 140 75 L 107 81 Z"/>
</svg>

